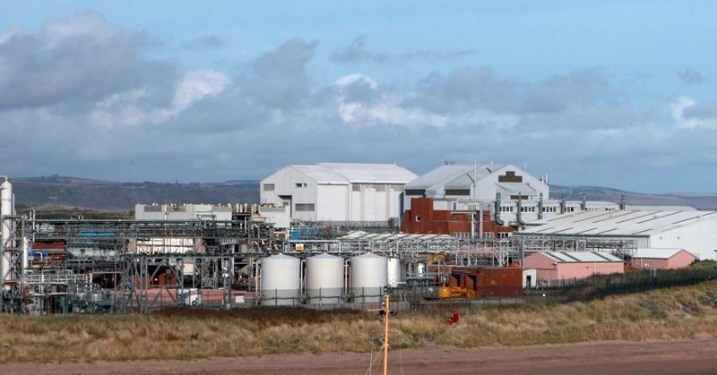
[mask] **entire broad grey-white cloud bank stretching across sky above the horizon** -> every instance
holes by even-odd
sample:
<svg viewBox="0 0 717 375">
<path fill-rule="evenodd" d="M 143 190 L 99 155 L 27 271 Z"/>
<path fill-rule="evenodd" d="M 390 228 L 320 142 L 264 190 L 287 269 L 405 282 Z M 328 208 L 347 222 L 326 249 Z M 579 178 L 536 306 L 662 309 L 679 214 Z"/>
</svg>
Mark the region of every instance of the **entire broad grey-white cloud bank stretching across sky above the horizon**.
<svg viewBox="0 0 717 375">
<path fill-rule="evenodd" d="M 400 61 L 354 42 L 346 61 Z M 661 175 L 691 181 L 690 156 L 717 162 L 717 102 L 638 111 L 600 68 L 531 81 L 469 65 L 399 84 L 358 64 L 319 84 L 315 40 L 289 39 L 231 73 L 148 54 L 162 47 L 98 13 L 0 34 L 4 174 L 216 182 L 324 161 L 396 160 L 422 174 L 444 158 L 527 160 L 553 181 L 639 190 Z"/>
</svg>

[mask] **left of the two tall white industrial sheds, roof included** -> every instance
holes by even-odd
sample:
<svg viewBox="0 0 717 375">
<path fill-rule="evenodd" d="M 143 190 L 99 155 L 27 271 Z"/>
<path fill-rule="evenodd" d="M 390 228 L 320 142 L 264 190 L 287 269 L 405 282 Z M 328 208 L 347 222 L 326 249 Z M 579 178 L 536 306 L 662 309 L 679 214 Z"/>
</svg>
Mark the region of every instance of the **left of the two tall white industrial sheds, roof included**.
<svg viewBox="0 0 717 375">
<path fill-rule="evenodd" d="M 395 164 L 285 166 L 262 180 L 261 202 L 299 220 L 385 221 L 400 216 L 403 186 L 416 177 Z"/>
</svg>

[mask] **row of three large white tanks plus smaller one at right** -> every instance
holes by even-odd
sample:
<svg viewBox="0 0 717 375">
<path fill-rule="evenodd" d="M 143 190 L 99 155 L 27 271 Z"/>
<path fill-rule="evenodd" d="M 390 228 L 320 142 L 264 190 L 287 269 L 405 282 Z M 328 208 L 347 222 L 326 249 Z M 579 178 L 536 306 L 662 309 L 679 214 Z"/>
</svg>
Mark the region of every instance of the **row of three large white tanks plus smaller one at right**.
<svg viewBox="0 0 717 375">
<path fill-rule="evenodd" d="M 343 258 L 319 254 L 306 260 L 307 303 L 341 303 L 347 265 Z M 384 286 L 401 281 L 401 263 L 366 253 L 350 258 L 350 292 L 357 302 L 381 301 Z M 262 304 L 294 305 L 302 301 L 301 260 L 285 254 L 264 258 L 261 264 Z"/>
</svg>

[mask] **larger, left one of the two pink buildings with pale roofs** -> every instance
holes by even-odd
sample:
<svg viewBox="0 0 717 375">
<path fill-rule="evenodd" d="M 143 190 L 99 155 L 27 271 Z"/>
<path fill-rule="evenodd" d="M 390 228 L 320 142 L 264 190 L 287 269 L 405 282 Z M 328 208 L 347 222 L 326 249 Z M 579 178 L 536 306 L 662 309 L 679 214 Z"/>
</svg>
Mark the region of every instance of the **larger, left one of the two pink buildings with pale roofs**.
<svg viewBox="0 0 717 375">
<path fill-rule="evenodd" d="M 544 286 L 558 286 L 595 274 L 623 273 L 625 262 L 607 252 L 536 252 L 525 258 L 523 268 L 535 268 Z"/>
</svg>

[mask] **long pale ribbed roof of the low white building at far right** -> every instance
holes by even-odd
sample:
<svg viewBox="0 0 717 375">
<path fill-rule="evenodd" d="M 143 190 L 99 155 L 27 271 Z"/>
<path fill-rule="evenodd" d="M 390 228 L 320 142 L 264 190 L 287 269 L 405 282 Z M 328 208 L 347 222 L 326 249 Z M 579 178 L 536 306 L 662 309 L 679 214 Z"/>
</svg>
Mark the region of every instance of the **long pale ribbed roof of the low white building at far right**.
<svg viewBox="0 0 717 375">
<path fill-rule="evenodd" d="M 521 234 L 643 235 L 717 218 L 715 211 L 575 211 L 539 220 Z M 540 225 L 542 224 L 542 225 Z"/>
</svg>

